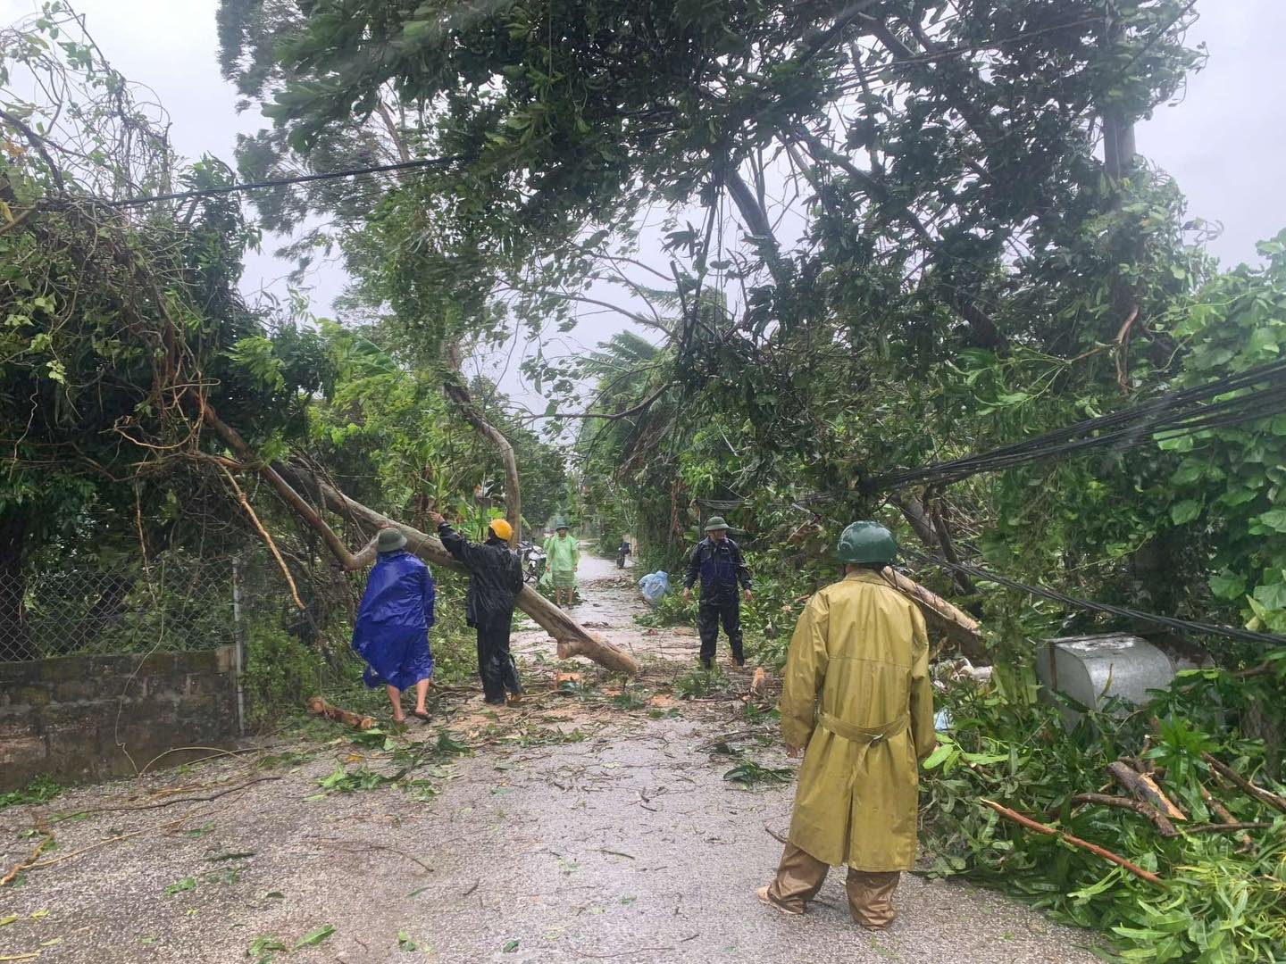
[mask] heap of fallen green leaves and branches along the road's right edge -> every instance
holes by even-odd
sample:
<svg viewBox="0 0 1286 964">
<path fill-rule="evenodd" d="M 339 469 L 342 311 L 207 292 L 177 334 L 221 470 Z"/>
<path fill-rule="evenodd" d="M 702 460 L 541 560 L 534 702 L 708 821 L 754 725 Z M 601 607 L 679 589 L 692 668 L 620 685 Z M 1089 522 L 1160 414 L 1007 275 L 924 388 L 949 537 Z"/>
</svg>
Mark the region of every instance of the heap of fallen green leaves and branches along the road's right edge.
<svg viewBox="0 0 1286 964">
<path fill-rule="evenodd" d="M 1151 729 L 1146 713 L 1093 712 L 1066 731 L 1057 710 L 994 689 L 949 690 L 953 735 L 941 736 L 921 785 L 923 844 L 937 875 L 966 875 L 1004 888 L 1057 919 L 1110 933 L 1130 961 L 1273 961 L 1286 942 L 1276 878 L 1286 868 L 1283 819 L 1240 792 L 1215 789 L 1201 752 L 1251 775 L 1263 744 L 1228 731 L 1219 699 L 1236 698 L 1227 674 L 1192 674 L 1152 707 L 1160 726 L 1147 752 L 1164 767 L 1164 789 L 1191 823 L 1218 823 L 1201 784 L 1238 820 L 1274 821 L 1237 834 L 1159 835 L 1146 819 L 1115 807 L 1075 806 L 1071 797 L 1105 779 L 1103 767 L 1138 754 Z M 979 805 L 994 799 L 1133 860 L 1166 879 L 1165 888 L 1114 869 L 1083 850 L 1030 833 Z M 1181 824 L 1182 829 L 1182 824 Z"/>
</svg>

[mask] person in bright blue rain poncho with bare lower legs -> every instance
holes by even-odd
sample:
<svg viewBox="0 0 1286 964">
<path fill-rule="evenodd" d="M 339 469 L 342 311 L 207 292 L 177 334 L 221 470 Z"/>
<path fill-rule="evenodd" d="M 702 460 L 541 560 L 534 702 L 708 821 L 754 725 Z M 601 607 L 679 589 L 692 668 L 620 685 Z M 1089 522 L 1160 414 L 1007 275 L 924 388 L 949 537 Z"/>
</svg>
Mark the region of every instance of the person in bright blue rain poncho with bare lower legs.
<svg viewBox="0 0 1286 964">
<path fill-rule="evenodd" d="M 414 715 L 428 720 L 424 699 L 433 675 L 428 629 L 433 625 L 433 575 L 406 551 L 406 536 L 396 528 L 379 530 L 379 557 L 367 580 L 367 591 L 352 629 L 352 648 L 367 661 L 363 681 L 372 689 L 383 684 L 394 704 L 394 722 L 404 722 L 401 693 L 415 688 Z"/>
</svg>

